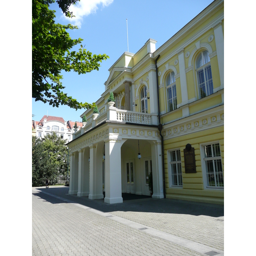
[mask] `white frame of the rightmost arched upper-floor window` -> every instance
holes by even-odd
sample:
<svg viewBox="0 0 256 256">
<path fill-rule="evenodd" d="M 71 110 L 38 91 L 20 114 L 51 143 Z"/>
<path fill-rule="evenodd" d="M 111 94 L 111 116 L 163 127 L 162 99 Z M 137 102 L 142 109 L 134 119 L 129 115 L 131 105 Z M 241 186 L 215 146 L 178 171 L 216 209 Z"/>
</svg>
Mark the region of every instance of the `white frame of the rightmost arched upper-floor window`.
<svg viewBox="0 0 256 256">
<path fill-rule="evenodd" d="M 204 52 L 208 52 L 207 50 L 204 50 L 202 52 L 200 52 L 200 54 L 198 54 L 198 56 L 195 58 L 195 68 L 196 68 L 196 77 L 197 77 L 197 82 L 198 82 L 198 96 L 199 96 L 199 99 L 203 99 L 209 95 L 211 95 L 213 93 L 213 81 L 212 81 L 212 78 L 211 79 L 208 79 L 207 80 L 207 76 L 206 76 L 206 71 L 207 69 L 211 69 L 211 76 L 212 76 L 212 66 L 211 66 L 211 61 L 207 62 L 207 63 L 204 63 L 202 66 L 200 67 L 197 67 L 197 60 L 198 60 L 198 57 L 201 55 L 202 57 L 202 60 L 204 60 Z M 208 56 L 209 56 L 209 52 L 208 52 Z M 199 79 L 199 72 L 203 71 L 204 73 L 204 82 L 200 84 L 200 79 Z M 211 86 L 211 88 L 208 88 L 207 84 L 211 84 L 209 86 Z M 202 85 L 204 85 L 205 87 L 205 91 L 206 91 L 206 96 L 202 97 L 201 96 L 201 87 Z M 209 91 L 209 89 L 211 91 Z"/>
</svg>

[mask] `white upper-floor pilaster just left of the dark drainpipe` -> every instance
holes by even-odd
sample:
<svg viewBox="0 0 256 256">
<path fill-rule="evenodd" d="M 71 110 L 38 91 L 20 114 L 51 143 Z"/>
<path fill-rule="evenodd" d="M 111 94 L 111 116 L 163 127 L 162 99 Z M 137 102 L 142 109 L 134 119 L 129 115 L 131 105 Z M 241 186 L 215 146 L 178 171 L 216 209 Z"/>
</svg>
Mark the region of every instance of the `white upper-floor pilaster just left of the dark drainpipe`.
<svg viewBox="0 0 256 256">
<path fill-rule="evenodd" d="M 149 87 L 149 102 L 150 102 L 150 113 L 156 114 L 151 116 L 152 125 L 158 125 L 158 105 L 157 105 L 157 78 L 156 71 L 150 70 L 148 72 L 148 87 Z"/>
</svg>

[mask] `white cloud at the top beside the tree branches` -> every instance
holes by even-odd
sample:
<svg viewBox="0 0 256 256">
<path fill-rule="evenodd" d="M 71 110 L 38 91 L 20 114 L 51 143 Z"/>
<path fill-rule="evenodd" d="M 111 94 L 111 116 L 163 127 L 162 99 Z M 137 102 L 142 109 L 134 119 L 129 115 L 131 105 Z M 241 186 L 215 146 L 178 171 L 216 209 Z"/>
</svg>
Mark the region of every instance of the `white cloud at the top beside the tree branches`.
<svg viewBox="0 0 256 256">
<path fill-rule="evenodd" d="M 80 0 L 75 5 L 70 6 L 69 11 L 73 12 L 73 15 L 76 17 L 68 18 L 65 16 L 66 19 L 70 21 L 70 23 L 81 27 L 81 21 L 84 16 L 90 15 L 91 13 L 95 13 L 98 9 L 99 5 L 102 7 L 109 6 L 113 3 L 113 0 Z"/>
</svg>

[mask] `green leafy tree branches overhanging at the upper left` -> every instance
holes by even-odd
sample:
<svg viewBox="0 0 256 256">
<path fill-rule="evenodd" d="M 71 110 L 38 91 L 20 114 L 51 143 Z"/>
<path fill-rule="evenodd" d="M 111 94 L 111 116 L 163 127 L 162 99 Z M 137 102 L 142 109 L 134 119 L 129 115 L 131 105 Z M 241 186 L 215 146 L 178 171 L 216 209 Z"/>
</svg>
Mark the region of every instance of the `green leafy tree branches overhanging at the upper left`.
<svg viewBox="0 0 256 256">
<path fill-rule="evenodd" d="M 73 17 L 68 8 L 77 1 L 57 0 L 57 3 L 66 16 Z M 63 93 L 61 71 L 85 74 L 99 70 L 100 62 L 109 57 L 106 54 L 93 55 L 84 49 L 81 38 L 71 39 L 66 29 L 77 29 L 76 26 L 56 24 L 55 11 L 49 10 L 49 4 L 54 2 L 32 0 L 32 98 L 49 102 L 53 107 L 61 104 L 76 110 L 93 108 L 95 103 L 78 102 Z M 71 51 L 77 44 L 81 44 L 78 52 Z"/>
</svg>

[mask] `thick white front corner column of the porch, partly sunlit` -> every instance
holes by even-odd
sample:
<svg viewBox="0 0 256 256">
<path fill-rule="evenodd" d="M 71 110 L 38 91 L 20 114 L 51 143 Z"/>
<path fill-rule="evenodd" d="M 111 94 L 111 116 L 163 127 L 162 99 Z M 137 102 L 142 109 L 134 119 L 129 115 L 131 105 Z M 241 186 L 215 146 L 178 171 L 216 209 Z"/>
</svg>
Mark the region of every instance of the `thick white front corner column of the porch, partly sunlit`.
<svg viewBox="0 0 256 256">
<path fill-rule="evenodd" d="M 105 198 L 108 204 L 122 203 L 121 141 L 105 141 Z"/>
</svg>

